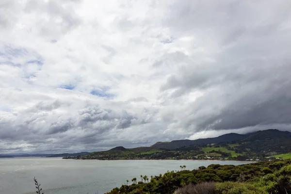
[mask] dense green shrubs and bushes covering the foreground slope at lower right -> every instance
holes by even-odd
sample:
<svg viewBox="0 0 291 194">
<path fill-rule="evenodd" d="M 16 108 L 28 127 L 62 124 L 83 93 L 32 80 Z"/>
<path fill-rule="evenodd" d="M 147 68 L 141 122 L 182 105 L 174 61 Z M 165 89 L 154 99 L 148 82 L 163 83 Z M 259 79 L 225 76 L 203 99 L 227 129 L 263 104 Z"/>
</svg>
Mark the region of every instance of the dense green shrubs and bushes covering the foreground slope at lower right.
<svg viewBox="0 0 291 194">
<path fill-rule="evenodd" d="M 242 165 L 211 164 L 194 170 L 166 172 L 107 194 L 289 194 L 291 161 L 266 161 Z M 145 178 L 146 177 L 146 178 Z"/>
</svg>

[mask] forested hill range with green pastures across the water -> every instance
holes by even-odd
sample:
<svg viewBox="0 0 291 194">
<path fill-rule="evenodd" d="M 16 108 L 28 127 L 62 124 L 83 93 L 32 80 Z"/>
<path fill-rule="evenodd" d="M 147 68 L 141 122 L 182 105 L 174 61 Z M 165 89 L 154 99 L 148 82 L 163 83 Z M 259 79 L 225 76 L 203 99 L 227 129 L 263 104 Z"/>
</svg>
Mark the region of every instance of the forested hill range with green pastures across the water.
<svg viewBox="0 0 291 194">
<path fill-rule="evenodd" d="M 243 160 L 291 159 L 291 133 L 276 129 L 245 135 L 229 133 L 216 138 L 159 142 L 149 147 L 114 147 L 108 151 L 65 159 L 97 160 Z"/>
</svg>

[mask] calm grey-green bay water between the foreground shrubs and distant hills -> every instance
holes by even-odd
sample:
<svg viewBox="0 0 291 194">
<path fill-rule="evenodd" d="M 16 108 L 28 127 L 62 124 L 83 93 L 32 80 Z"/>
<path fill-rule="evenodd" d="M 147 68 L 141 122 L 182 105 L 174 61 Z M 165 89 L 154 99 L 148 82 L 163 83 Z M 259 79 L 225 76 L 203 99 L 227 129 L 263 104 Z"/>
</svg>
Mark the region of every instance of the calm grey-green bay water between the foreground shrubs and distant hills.
<svg viewBox="0 0 291 194">
<path fill-rule="evenodd" d="M 223 161 L 97 161 L 62 158 L 0 158 L 0 194 L 35 194 L 33 177 L 44 194 L 104 194 L 140 175 L 148 177 L 179 170 L 208 166 L 211 163 L 242 164 Z"/>
</svg>

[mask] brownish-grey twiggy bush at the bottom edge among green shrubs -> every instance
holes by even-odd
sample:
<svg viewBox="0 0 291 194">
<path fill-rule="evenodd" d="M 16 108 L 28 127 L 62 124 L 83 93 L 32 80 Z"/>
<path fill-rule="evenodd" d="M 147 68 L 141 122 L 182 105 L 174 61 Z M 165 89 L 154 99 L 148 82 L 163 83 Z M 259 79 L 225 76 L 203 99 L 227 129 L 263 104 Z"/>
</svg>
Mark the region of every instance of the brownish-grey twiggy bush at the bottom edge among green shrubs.
<svg viewBox="0 0 291 194">
<path fill-rule="evenodd" d="M 215 194 L 214 182 L 201 182 L 179 188 L 175 194 Z"/>
</svg>

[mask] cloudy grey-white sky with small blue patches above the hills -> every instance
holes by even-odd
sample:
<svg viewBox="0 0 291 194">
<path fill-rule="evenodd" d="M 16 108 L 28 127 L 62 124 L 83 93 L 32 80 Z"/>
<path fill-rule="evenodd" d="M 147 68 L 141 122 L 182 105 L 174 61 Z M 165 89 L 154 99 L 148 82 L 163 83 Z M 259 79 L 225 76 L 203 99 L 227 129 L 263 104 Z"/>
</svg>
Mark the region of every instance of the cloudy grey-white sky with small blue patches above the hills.
<svg viewBox="0 0 291 194">
<path fill-rule="evenodd" d="M 0 0 L 0 153 L 291 131 L 290 0 Z"/>
</svg>

